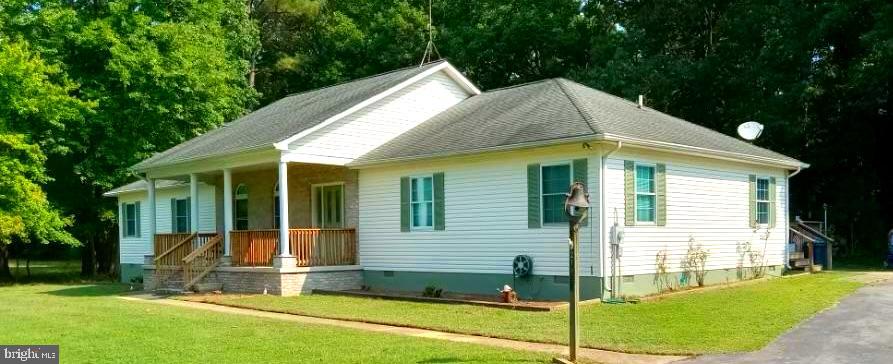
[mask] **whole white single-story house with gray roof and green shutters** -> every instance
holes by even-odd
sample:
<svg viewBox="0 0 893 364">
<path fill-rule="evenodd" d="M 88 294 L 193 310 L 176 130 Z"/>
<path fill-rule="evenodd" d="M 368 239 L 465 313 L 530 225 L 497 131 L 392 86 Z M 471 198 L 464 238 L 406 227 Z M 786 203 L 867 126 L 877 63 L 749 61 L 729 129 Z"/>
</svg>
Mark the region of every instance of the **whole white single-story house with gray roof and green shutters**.
<svg viewBox="0 0 893 364">
<path fill-rule="evenodd" d="M 709 252 L 708 283 L 755 264 L 780 273 L 788 179 L 805 167 L 565 79 L 481 92 L 441 61 L 288 96 L 135 165 L 145 181 L 108 195 L 122 206 L 125 271 L 150 286 L 509 284 L 562 299 L 572 181 L 592 204 L 582 295 L 601 297 L 687 284 L 690 245 Z M 185 205 L 189 230 L 172 235 L 171 207 Z M 530 275 L 513 275 L 519 255 Z"/>
</svg>

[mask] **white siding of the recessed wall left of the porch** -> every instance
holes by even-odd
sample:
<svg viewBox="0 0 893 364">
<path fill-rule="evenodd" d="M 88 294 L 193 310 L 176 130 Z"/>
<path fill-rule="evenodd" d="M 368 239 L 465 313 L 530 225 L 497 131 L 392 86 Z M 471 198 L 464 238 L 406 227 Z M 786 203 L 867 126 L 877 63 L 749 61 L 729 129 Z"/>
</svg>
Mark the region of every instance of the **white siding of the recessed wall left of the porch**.
<svg viewBox="0 0 893 364">
<path fill-rule="evenodd" d="M 149 241 L 149 204 L 146 191 L 128 192 L 118 196 L 118 204 L 140 201 L 140 236 L 123 237 L 120 244 L 122 264 L 143 264 L 143 256 L 152 254 Z M 185 199 L 189 196 L 189 186 L 158 189 L 155 191 L 155 228 L 159 234 L 171 232 L 171 199 Z M 199 231 L 217 231 L 217 218 L 214 202 L 214 186 L 199 184 Z M 122 227 L 123 233 L 123 227 Z"/>
</svg>

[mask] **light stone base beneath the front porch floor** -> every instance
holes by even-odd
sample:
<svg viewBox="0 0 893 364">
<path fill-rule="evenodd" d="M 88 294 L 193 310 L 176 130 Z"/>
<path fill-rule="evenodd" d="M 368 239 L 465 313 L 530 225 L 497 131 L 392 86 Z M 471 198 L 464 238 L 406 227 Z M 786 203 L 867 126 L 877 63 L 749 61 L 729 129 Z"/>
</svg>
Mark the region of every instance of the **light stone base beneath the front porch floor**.
<svg viewBox="0 0 893 364">
<path fill-rule="evenodd" d="M 172 277 L 172 281 L 181 279 Z M 147 290 L 156 288 L 155 268 L 144 266 L 143 282 Z M 222 283 L 224 292 L 263 293 L 280 296 L 309 294 L 314 289 L 343 291 L 363 285 L 363 271 L 357 266 L 297 268 L 280 271 L 275 268 L 218 267 L 202 279 L 202 283 Z"/>
</svg>

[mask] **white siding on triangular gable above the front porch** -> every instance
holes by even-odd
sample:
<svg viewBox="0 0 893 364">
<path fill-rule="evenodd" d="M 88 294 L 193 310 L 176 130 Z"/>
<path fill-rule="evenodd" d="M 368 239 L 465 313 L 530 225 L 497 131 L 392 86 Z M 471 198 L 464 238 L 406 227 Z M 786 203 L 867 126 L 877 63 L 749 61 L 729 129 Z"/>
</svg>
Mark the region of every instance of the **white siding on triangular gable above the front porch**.
<svg viewBox="0 0 893 364">
<path fill-rule="evenodd" d="M 289 145 L 296 162 L 344 165 L 469 97 L 443 71 Z"/>
</svg>

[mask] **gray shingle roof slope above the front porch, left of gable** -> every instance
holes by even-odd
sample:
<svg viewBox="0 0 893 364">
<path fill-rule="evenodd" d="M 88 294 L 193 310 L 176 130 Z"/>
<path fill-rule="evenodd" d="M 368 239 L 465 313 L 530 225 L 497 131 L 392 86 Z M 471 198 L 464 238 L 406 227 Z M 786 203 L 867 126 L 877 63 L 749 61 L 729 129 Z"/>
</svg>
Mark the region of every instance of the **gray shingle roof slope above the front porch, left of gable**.
<svg viewBox="0 0 893 364">
<path fill-rule="evenodd" d="M 143 160 L 134 169 L 269 146 L 312 128 L 354 105 L 442 63 L 432 62 L 286 96 L 235 121 Z"/>
</svg>

